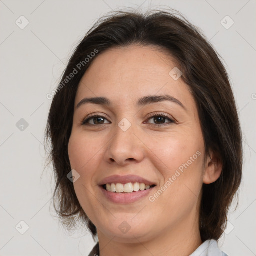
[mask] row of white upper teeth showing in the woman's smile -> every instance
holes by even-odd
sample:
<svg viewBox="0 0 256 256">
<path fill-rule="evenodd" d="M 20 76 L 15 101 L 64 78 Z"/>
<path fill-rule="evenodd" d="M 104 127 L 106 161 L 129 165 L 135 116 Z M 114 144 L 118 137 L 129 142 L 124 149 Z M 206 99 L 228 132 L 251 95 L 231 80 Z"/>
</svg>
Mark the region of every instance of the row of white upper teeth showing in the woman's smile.
<svg viewBox="0 0 256 256">
<path fill-rule="evenodd" d="M 116 192 L 116 193 L 131 193 L 133 191 L 138 191 L 138 190 L 146 190 L 149 189 L 151 186 L 150 185 L 146 185 L 144 183 L 138 183 L 135 182 L 134 184 L 132 184 L 131 182 L 126 183 L 126 184 L 122 184 L 122 183 L 107 183 L 106 184 L 106 190 L 109 192 Z"/>
</svg>

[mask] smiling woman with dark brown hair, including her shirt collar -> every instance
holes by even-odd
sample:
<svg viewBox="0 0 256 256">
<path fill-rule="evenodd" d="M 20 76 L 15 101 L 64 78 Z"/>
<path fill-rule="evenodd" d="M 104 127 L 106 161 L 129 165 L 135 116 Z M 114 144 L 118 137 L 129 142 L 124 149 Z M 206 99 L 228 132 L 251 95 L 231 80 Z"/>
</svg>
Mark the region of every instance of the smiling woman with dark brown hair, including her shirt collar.
<svg viewBox="0 0 256 256">
<path fill-rule="evenodd" d="M 241 132 L 217 53 L 177 14 L 116 12 L 75 49 L 55 92 L 54 205 L 98 237 L 90 255 L 226 255 Z"/>
</svg>

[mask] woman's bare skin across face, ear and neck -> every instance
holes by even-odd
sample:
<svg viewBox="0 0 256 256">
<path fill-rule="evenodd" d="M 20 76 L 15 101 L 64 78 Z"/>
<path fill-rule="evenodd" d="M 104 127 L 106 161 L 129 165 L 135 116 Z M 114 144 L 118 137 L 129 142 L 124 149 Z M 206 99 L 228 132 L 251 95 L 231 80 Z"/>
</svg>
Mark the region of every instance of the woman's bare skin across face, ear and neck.
<svg viewBox="0 0 256 256">
<path fill-rule="evenodd" d="M 183 80 L 169 75 L 175 66 L 175 59 L 153 46 L 112 48 L 93 60 L 79 84 L 68 154 L 80 175 L 75 193 L 97 227 L 100 255 L 189 255 L 202 243 L 202 184 L 214 182 L 222 166 L 212 152 L 205 157 L 195 101 Z M 163 94 L 184 108 L 170 101 L 136 105 L 143 96 Z M 107 97 L 111 104 L 76 108 L 84 97 L 96 96 Z M 154 112 L 174 122 L 155 122 L 149 116 Z M 82 125 L 91 113 L 103 115 L 104 124 L 92 118 L 91 125 Z M 127 131 L 118 126 L 123 118 L 131 124 Z M 198 151 L 200 156 L 154 202 L 145 196 L 129 204 L 113 203 L 98 186 L 105 177 L 134 174 L 156 184 L 153 195 Z M 131 227 L 127 233 L 118 228 L 123 221 Z"/>
</svg>

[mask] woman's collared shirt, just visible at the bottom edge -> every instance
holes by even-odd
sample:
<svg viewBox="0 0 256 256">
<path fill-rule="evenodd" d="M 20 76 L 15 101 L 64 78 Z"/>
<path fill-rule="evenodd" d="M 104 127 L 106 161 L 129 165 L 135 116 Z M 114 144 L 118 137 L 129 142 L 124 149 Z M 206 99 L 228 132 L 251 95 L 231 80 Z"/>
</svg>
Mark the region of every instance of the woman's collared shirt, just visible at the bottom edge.
<svg viewBox="0 0 256 256">
<path fill-rule="evenodd" d="M 88 256 L 99 256 L 99 244 L 97 243 Z M 190 256 L 228 256 L 218 248 L 216 240 L 206 240 Z"/>
</svg>

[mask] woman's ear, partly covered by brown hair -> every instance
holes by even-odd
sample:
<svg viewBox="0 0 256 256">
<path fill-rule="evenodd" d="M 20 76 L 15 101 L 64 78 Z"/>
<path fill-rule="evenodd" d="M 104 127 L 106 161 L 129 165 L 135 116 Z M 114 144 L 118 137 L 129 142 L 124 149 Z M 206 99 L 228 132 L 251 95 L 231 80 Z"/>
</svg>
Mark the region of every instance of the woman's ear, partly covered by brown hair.
<svg viewBox="0 0 256 256">
<path fill-rule="evenodd" d="M 210 151 L 205 163 L 203 183 L 210 184 L 215 182 L 221 174 L 222 167 L 223 164 L 220 156 L 217 153 Z"/>
</svg>

